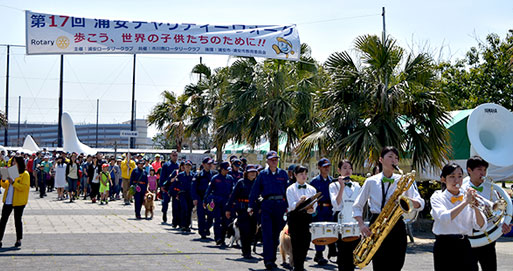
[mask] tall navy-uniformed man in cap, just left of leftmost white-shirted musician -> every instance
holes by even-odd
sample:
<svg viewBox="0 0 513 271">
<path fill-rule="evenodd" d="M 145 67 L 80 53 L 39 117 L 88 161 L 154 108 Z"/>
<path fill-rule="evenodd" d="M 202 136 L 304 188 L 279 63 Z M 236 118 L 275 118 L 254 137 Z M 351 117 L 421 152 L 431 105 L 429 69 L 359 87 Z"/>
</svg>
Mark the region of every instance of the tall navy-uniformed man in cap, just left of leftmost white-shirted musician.
<svg viewBox="0 0 513 271">
<path fill-rule="evenodd" d="M 257 199 L 262 196 L 261 224 L 264 244 L 264 264 L 267 270 L 277 268 L 276 249 L 279 244 L 280 231 L 285 226 L 283 216 L 287 211 L 287 171 L 278 168 L 278 153 L 269 151 L 266 155 L 267 169 L 258 175 L 249 196 L 248 213 L 252 214 Z"/>
</svg>

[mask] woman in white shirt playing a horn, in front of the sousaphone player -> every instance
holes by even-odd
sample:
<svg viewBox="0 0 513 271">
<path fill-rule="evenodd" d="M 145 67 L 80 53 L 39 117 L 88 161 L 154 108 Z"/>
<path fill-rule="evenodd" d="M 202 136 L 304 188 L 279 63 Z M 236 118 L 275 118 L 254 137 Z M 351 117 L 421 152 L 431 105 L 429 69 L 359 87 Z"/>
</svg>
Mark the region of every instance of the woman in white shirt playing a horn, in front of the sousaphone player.
<svg viewBox="0 0 513 271">
<path fill-rule="evenodd" d="M 461 189 L 463 170 L 455 163 L 444 166 L 440 181 L 446 189 L 431 196 L 435 270 L 472 270 L 474 261 L 468 235 L 473 229 L 486 227 L 484 215 L 474 207 L 476 190 Z"/>
</svg>

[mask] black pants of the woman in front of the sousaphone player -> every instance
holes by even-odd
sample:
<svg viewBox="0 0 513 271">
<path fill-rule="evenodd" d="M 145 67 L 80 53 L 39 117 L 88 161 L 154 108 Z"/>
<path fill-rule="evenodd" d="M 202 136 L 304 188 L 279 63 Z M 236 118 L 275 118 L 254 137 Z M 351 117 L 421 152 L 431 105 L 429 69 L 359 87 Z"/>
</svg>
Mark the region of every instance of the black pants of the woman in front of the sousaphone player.
<svg viewBox="0 0 513 271">
<path fill-rule="evenodd" d="M 437 235 L 433 246 L 435 271 L 472 270 L 474 260 L 471 249 L 466 237 Z M 475 264 L 477 267 L 477 262 Z"/>
</svg>

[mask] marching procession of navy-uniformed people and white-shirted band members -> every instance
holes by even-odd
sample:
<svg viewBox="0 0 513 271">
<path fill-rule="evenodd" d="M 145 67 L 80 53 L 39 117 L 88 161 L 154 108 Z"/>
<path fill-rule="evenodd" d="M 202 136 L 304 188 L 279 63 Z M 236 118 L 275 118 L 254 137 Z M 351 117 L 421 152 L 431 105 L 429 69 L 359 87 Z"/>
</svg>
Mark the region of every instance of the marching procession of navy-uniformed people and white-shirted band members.
<svg viewBox="0 0 513 271">
<path fill-rule="evenodd" d="M 243 158 L 232 156 L 230 162 L 218 164 L 205 157 L 200 170 L 192 170 L 191 161 L 177 162 L 178 155 L 172 153 L 171 160 L 163 163 L 160 170 L 160 197 L 162 200 L 163 223 L 167 223 L 169 203 L 172 204 L 171 224 L 183 232 L 191 231 L 193 208 L 197 210 L 197 232 L 202 239 L 211 235 L 219 247 L 225 247 L 229 224 L 236 218 L 240 229 L 242 256 L 253 259 L 251 244 L 257 228 L 261 229 L 263 262 L 267 270 L 277 268 L 276 254 L 280 232 L 288 225 L 292 243 L 293 270 L 304 270 L 304 263 L 312 235 L 310 223 L 339 222 L 340 218 L 351 219 L 361 235 L 342 238 L 328 245 L 326 258 L 337 257 L 339 270 L 354 270 L 353 253 L 361 236 L 371 235 L 369 223 L 379 216 L 401 178 L 394 169 L 399 162 L 399 152 L 394 147 L 385 147 L 379 158 L 378 173 L 367 178 L 363 186 L 351 180 L 352 163 L 342 160 L 338 163 L 338 178 L 333 178 L 331 162 L 322 158 L 318 161 L 319 175 L 307 182 L 308 169 L 291 166 L 286 170 L 278 167 L 278 153 L 266 155 L 267 167 L 247 164 Z M 134 165 L 135 167 L 135 165 Z M 486 220 L 473 204 L 476 194 L 490 198 L 490 189 L 483 183 L 488 163 L 480 157 L 472 157 L 467 163 L 469 177 L 463 181 L 463 169 L 448 164 L 442 169 L 440 181 L 444 189 L 431 197 L 431 215 L 434 218 L 433 233 L 435 270 L 496 270 L 495 242 L 473 249 L 468 236 L 472 230 L 482 230 Z M 125 168 L 126 169 L 126 168 Z M 123 167 L 122 167 L 123 170 Z M 128 172 L 130 173 L 130 172 Z M 141 205 L 148 179 L 143 173 L 143 163 L 138 162 L 131 172 L 130 185 L 138 188 L 134 193 L 135 214 L 140 218 Z M 468 189 L 467 189 L 468 188 Z M 305 201 L 320 192 L 322 197 L 315 204 L 304 207 Z M 415 185 L 404 195 L 411 199 L 413 208 L 424 208 Z M 493 195 L 491 195 L 493 197 Z M 366 205 L 368 207 L 366 207 Z M 365 209 L 370 211 L 370 222 L 364 221 Z M 511 225 L 502 225 L 503 232 L 509 232 Z M 385 238 L 374 257 L 374 270 L 401 270 L 406 255 L 406 228 L 400 219 Z M 328 264 L 324 257 L 325 246 L 315 245 L 314 261 L 322 266 Z M 465 260 L 462 260 L 465 259 Z"/>
</svg>

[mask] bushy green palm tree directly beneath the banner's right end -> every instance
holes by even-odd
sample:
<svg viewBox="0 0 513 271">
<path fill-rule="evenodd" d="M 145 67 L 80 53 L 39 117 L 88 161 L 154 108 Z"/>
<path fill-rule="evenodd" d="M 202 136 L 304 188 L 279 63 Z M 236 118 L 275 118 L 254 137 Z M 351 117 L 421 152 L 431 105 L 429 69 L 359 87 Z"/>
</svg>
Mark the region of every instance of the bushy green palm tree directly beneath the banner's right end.
<svg viewBox="0 0 513 271">
<path fill-rule="evenodd" d="M 318 87 L 317 65 L 310 48 L 301 46 L 300 62 L 241 58 L 230 66 L 228 101 L 220 107 L 225 120 L 220 134 L 252 146 L 262 138 L 278 150 L 280 135 L 288 148 L 312 124 L 313 92 Z"/>
</svg>

